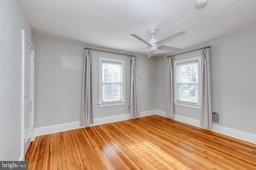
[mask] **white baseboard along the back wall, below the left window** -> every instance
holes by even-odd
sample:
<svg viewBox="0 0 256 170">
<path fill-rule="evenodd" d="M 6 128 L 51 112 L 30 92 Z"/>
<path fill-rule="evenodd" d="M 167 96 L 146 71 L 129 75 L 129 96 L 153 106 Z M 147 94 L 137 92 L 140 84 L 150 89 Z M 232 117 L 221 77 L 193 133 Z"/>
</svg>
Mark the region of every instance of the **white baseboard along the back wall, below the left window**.
<svg viewBox="0 0 256 170">
<path fill-rule="evenodd" d="M 140 117 L 149 116 L 156 114 L 156 110 L 150 110 L 150 111 L 141 111 Z M 116 116 L 110 116 L 110 117 L 102 117 L 98 119 L 93 120 L 93 125 L 90 126 L 96 126 L 96 125 L 102 125 L 106 123 L 113 123 L 117 121 L 124 121 L 131 119 L 129 114 L 124 115 L 116 115 Z M 71 122 L 71 123 L 64 123 L 60 125 L 52 125 L 52 126 L 46 126 L 46 127 L 37 127 L 34 128 L 34 135 L 41 136 L 41 135 L 48 135 L 51 133 L 58 133 L 63 131 L 69 131 L 73 129 L 80 129 L 84 128 L 84 126 L 80 127 L 80 121 Z"/>
</svg>

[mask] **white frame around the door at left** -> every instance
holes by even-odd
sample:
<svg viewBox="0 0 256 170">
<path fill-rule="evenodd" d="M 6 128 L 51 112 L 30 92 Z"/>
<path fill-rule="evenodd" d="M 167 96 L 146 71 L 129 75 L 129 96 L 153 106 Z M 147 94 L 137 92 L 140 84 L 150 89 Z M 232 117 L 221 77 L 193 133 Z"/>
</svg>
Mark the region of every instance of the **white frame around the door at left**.
<svg viewBox="0 0 256 170">
<path fill-rule="evenodd" d="M 22 125 L 22 145 L 21 145 L 21 153 L 22 153 L 22 160 L 25 159 L 25 154 L 24 153 L 24 89 L 25 89 L 25 84 L 24 84 L 24 77 L 25 77 L 25 42 L 27 42 L 32 51 L 32 69 L 31 69 L 31 74 L 32 74 L 32 83 L 31 83 L 31 98 L 32 98 L 32 108 L 31 108 L 31 141 L 34 141 L 34 44 L 32 43 L 32 41 L 30 41 L 30 39 L 28 39 L 26 37 L 26 34 L 25 34 L 25 30 L 22 29 L 22 122 L 21 122 L 21 125 Z"/>
</svg>

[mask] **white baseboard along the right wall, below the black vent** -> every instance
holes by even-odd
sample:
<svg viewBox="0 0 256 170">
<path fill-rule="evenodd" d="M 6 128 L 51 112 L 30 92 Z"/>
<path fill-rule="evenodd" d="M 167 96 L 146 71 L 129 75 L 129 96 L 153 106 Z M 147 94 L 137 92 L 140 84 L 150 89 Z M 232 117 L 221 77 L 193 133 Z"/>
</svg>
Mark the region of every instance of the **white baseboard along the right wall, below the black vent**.
<svg viewBox="0 0 256 170">
<path fill-rule="evenodd" d="M 156 110 L 156 114 L 166 117 L 165 111 Z M 170 117 L 168 117 L 168 118 L 170 118 Z M 205 129 L 204 127 L 200 126 L 200 121 L 196 120 L 196 119 L 191 119 L 188 117 L 183 117 L 183 116 L 175 115 L 175 114 L 174 114 L 174 118 L 170 118 L 170 119 L 174 119 L 176 121 L 180 121 L 183 123 L 187 123 L 189 125 L 193 125 L 193 126 Z M 223 127 L 223 126 L 215 125 L 215 124 L 212 125 L 212 129 L 208 129 L 208 130 L 216 132 L 216 133 L 220 133 L 222 135 L 227 135 L 230 137 L 234 137 L 236 139 L 241 139 L 243 141 L 247 141 L 247 142 L 256 144 L 256 135 L 252 134 L 252 133 L 238 131 L 236 129 L 231 129 L 228 127 Z"/>
</svg>

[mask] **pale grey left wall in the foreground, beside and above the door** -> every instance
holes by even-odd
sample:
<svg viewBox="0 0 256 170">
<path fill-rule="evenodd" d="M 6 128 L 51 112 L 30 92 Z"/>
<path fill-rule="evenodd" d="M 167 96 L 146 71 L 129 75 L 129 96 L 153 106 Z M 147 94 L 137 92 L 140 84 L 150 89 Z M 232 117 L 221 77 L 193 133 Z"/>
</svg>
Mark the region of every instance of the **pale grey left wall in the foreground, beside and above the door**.
<svg viewBox="0 0 256 170">
<path fill-rule="evenodd" d="M 16 0 L 0 1 L 0 160 L 22 156 L 22 29 L 34 35 Z"/>
</svg>

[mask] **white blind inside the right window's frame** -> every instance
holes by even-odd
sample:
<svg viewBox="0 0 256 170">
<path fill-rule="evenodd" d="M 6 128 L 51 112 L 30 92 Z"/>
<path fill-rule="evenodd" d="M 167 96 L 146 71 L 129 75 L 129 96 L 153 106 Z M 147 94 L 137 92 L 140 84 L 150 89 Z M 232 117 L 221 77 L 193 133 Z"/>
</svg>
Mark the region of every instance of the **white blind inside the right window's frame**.
<svg viewBox="0 0 256 170">
<path fill-rule="evenodd" d="M 198 104 L 198 61 L 176 65 L 176 101 Z"/>
</svg>

